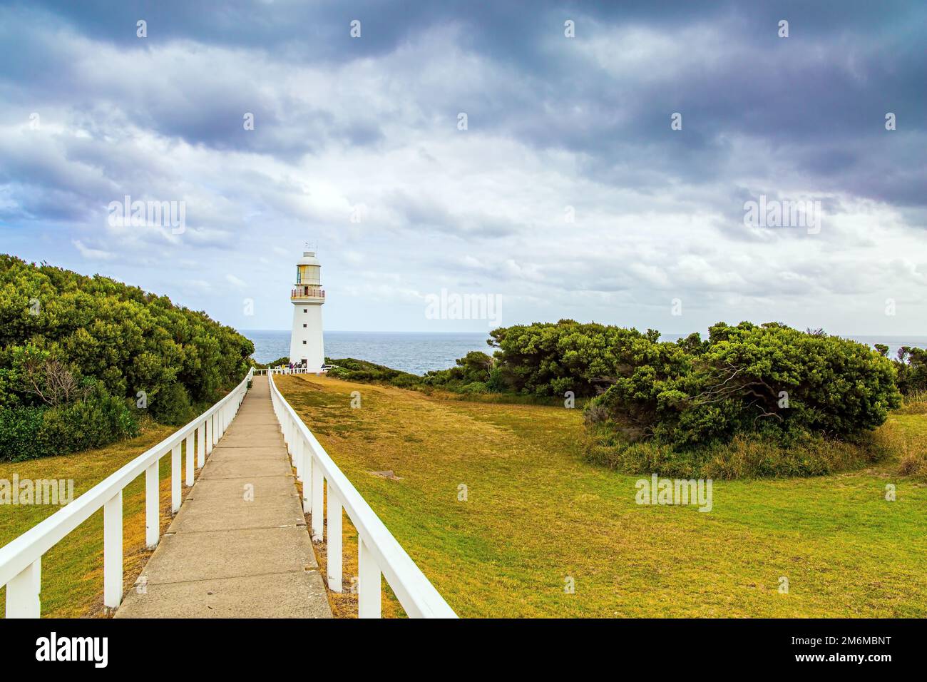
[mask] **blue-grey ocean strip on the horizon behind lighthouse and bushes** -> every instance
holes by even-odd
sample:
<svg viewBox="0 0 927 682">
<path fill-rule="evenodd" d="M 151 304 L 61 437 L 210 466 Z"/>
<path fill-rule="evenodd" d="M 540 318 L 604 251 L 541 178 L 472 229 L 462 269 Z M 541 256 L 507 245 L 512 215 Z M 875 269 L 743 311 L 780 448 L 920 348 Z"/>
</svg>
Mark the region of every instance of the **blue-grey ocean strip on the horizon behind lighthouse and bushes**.
<svg viewBox="0 0 927 682">
<path fill-rule="evenodd" d="M 289 354 L 289 330 L 241 329 L 254 341 L 254 359 L 260 363 Z M 679 334 L 664 334 L 662 341 L 676 341 Z M 703 334 L 703 338 L 705 335 Z M 889 357 L 895 357 L 901 346 L 927 348 L 927 336 L 846 336 L 845 338 L 873 346 L 884 343 Z M 401 331 L 326 331 L 327 357 L 355 357 L 377 365 L 385 365 L 413 374 L 425 374 L 433 369 L 454 366 L 454 360 L 470 351 L 492 354 L 487 344 L 488 334 L 482 332 L 401 332 Z"/>
</svg>

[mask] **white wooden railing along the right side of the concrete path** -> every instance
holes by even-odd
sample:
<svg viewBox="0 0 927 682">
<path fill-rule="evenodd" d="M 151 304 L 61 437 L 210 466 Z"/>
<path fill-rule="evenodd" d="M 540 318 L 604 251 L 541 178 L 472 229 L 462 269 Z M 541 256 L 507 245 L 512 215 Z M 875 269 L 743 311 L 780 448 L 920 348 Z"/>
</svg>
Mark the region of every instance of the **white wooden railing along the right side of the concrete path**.
<svg viewBox="0 0 927 682">
<path fill-rule="evenodd" d="M 311 513 L 312 539 L 318 542 L 323 540 L 323 506 L 327 483 L 328 588 L 334 592 L 342 589 L 341 510 L 344 508 L 358 534 L 357 588 L 360 618 L 380 617 L 381 575 L 386 577 L 387 584 L 411 618 L 456 618 L 457 615 L 438 594 L 438 590 L 428 582 L 425 573 L 406 554 L 383 521 L 380 521 L 286 402 L 273 383 L 274 374 L 284 373 L 288 373 L 286 369 L 272 369 L 268 372 L 273 411 L 280 421 L 298 480 L 302 482 L 302 508 L 304 512 Z"/>
</svg>

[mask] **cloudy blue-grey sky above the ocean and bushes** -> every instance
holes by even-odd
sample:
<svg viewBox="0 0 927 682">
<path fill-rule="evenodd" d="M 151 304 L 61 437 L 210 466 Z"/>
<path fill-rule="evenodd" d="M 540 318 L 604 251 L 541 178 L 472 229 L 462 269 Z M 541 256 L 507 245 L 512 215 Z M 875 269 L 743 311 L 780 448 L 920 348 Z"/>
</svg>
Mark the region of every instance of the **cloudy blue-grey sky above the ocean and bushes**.
<svg viewBox="0 0 927 682">
<path fill-rule="evenodd" d="M 428 319 L 447 290 L 924 334 L 925 32 L 868 0 L 3 3 L 0 251 L 238 328 L 289 327 L 309 241 L 332 329 L 489 328 Z M 817 228 L 745 222 L 761 197 Z"/>
</svg>

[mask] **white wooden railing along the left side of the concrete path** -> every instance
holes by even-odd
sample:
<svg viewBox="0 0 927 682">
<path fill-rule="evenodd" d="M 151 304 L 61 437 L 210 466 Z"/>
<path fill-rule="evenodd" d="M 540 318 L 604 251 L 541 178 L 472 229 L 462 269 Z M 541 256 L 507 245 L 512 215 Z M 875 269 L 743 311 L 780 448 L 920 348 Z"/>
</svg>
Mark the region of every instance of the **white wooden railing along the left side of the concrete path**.
<svg viewBox="0 0 927 682">
<path fill-rule="evenodd" d="M 232 423 L 248 392 L 254 370 L 235 389 L 199 417 L 135 457 L 120 470 L 0 547 L 0 586 L 6 585 L 6 617 L 38 618 L 42 585 L 42 555 L 65 535 L 103 508 L 103 603 L 112 610 L 122 601 L 122 490 L 145 473 L 146 546 L 158 545 L 160 535 L 159 463 L 171 453 L 171 511 L 181 504 L 181 444 L 185 443 L 186 484 L 193 485 L 194 456 L 202 468 L 206 456 Z"/>
</svg>

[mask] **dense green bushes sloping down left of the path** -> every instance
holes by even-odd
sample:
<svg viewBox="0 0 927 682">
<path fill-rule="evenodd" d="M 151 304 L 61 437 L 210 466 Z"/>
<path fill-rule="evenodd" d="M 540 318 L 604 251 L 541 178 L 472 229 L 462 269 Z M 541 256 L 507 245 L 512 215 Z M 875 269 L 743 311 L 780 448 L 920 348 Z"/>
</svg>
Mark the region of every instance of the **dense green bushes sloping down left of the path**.
<svg viewBox="0 0 927 682">
<path fill-rule="evenodd" d="M 139 394 L 153 418 L 182 423 L 241 380 L 253 351 L 234 329 L 166 297 L 0 255 L 2 457 L 131 435 Z"/>
</svg>

